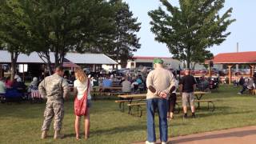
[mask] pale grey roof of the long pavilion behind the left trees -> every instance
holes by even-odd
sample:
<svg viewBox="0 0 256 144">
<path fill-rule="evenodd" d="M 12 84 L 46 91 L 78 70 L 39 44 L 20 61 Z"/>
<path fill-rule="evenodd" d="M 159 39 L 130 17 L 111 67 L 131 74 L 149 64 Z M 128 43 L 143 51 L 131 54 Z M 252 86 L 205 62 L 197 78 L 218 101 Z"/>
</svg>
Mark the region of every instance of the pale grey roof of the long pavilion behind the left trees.
<svg viewBox="0 0 256 144">
<path fill-rule="evenodd" d="M 10 63 L 10 53 L 6 50 L 0 50 L 0 63 Z M 78 54 L 78 53 L 67 53 L 65 56 L 70 62 L 75 64 L 106 64 L 115 65 L 118 64 L 113 59 L 107 57 L 105 54 Z M 54 63 L 54 53 L 50 53 L 50 62 Z M 20 54 L 18 55 L 17 63 L 44 63 L 39 58 L 38 53 L 33 52 L 29 55 Z"/>
</svg>

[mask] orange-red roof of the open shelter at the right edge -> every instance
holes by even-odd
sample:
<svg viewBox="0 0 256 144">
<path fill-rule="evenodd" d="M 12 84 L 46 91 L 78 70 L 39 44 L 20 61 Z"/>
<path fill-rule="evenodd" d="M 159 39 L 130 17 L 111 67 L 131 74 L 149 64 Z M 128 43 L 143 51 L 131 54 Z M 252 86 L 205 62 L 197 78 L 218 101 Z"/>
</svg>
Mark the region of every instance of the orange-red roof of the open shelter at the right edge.
<svg viewBox="0 0 256 144">
<path fill-rule="evenodd" d="M 221 53 L 214 56 L 214 63 L 256 63 L 256 51 Z"/>
</svg>

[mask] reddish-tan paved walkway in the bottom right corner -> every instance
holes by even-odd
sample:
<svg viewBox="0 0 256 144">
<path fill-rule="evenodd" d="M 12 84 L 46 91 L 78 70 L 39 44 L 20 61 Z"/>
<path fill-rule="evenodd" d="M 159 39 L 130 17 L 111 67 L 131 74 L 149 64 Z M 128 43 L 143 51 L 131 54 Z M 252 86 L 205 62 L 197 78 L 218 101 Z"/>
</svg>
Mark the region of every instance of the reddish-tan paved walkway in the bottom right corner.
<svg viewBox="0 0 256 144">
<path fill-rule="evenodd" d="M 256 126 L 191 134 L 169 140 L 169 144 L 256 144 Z"/>
</svg>

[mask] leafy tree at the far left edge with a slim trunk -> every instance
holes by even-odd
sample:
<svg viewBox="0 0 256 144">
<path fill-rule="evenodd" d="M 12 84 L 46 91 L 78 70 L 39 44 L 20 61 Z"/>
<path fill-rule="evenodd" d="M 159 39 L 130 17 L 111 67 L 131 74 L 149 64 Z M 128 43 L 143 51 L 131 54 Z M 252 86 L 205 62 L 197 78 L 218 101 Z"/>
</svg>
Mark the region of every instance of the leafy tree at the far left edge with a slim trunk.
<svg viewBox="0 0 256 144">
<path fill-rule="evenodd" d="M 30 54 L 31 48 L 27 45 L 30 33 L 21 22 L 23 13 L 14 6 L 18 5 L 15 0 L 3 0 L 0 2 L 0 44 L 2 50 L 10 52 L 11 79 L 16 74 L 16 63 L 20 53 Z"/>
</svg>

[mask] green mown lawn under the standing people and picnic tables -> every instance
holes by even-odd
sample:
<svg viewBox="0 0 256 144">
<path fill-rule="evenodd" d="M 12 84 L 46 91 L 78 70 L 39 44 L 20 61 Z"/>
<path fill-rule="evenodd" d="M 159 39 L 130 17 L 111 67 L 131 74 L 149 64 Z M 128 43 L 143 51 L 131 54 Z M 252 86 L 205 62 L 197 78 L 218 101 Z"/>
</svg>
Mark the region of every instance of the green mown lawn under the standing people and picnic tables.
<svg viewBox="0 0 256 144">
<path fill-rule="evenodd" d="M 206 110 L 206 104 L 198 110 L 198 118 L 183 121 L 182 114 L 176 114 L 169 123 L 171 137 L 195 134 L 204 131 L 250 126 L 256 124 L 256 100 L 249 94 L 238 95 L 238 88 L 221 86 L 218 93 L 209 94 L 203 99 L 220 99 L 216 102 L 216 110 Z M 74 138 L 73 103 L 65 103 L 66 113 L 62 133 L 66 138 L 56 143 L 78 142 Z M 0 104 L 0 143 L 52 143 L 50 138 L 41 140 L 42 114 L 45 104 Z M 89 140 L 80 143 L 130 143 L 146 139 L 146 117 L 137 118 L 118 110 L 114 99 L 97 100 L 91 110 L 91 134 Z M 156 118 L 158 123 L 158 118 Z M 158 125 L 156 126 L 158 127 Z M 157 128 L 158 131 L 158 128 Z M 79 143 L 78 142 L 78 143 Z"/>
</svg>

